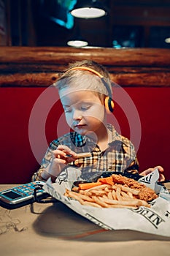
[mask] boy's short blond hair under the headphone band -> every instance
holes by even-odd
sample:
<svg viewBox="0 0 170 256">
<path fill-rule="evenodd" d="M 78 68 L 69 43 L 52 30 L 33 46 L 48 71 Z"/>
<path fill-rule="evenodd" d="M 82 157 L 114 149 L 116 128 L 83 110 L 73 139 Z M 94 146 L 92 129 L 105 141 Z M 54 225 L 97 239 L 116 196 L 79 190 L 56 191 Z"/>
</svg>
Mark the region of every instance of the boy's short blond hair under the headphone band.
<svg viewBox="0 0 170 256">
<path fill-rule="evenodd" d="M 99 74 L 96 75 L 94 72 L 78 69 L 78 67 L 87 67 L 93 69 Z M 104 80 L 102 80 L 101 77 L 103 77 L 102 79 Z M 109 72 L 96 61 L 84 60 L 75 61 L 74 63 L 69 64 L 69 68 L 66 69 L 65 72 L 58 78 L 55 86 L 58 88 L 58 91 L 65 88 L 74 87 L 78 90 L 88 89 L 93 91 L 100 99 L 104 99 L 104 96 L 112 97 L 112 95 L 110 95 L 112 94 L 112 86 L 109 80 Z"/>
</svg>

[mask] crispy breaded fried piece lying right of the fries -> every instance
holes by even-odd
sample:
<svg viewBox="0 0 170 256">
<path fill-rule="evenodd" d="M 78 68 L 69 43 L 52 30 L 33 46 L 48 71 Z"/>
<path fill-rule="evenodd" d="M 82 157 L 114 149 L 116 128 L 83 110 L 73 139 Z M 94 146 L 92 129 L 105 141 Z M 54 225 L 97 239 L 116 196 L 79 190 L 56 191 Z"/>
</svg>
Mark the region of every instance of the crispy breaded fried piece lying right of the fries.
<svg viewBox="0 0 170 256">
<path fill-rule="evenodd" d="M 112 180 L 115 184 L 122 184 L 130 187 L 131 189 L 139 190 L 139 199 L 150 201 L 158 197 L 153 189 L 146 187 L 144 184 L 140 184 L 133 178 L 127 178 L 120 174 L 112 174 Z"/>
</svg>

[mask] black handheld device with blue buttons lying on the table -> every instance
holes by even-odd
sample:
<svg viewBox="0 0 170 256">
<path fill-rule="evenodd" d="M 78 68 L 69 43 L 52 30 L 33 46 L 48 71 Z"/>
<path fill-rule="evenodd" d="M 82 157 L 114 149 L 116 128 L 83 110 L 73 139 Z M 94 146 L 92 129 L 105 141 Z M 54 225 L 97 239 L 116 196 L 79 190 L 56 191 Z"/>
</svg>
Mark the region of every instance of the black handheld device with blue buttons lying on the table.
<svg viewBox="0 0 170 256">
<path fill-rule="evenodd" d="M 43 181 L 34 181 L 28 184 L 12 187 L 0 192 L 0 206 L 7 209 L 15 209 L 34 203 L 36 198 L 39 200 L 50 197 L 50 195 L 43 189 Z M 34 191 L 36 189 L 36 198 Z"/>
</svg>

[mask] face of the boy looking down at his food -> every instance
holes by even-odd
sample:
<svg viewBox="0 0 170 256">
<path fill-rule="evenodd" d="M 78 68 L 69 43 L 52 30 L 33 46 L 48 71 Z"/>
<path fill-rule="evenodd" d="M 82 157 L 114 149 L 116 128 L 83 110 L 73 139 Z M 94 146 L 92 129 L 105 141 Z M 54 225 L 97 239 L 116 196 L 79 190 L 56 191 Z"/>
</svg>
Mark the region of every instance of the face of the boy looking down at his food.
<svg viewBox="0 0 170 256">
<path fill-rule="evenodd" d="M 64 89 L 64 94 L 67 89 Z M 93 91 L 74 91 L 61 97 L 66 121 L 75 132 L 85 135 L 100 133 L 105 121 L 105 109 Z"/>
</svg>

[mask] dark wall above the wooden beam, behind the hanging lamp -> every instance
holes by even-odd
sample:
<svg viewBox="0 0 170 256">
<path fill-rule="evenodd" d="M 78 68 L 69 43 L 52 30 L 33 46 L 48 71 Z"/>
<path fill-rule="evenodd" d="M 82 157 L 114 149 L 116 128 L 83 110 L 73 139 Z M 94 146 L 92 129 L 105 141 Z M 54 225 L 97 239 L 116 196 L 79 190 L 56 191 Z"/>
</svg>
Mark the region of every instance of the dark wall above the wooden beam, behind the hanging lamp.
<svg viewBox="0 0 170 256">
<path fill-rule="evenodd" d="M 170 37 L 170 0 L 103 0 L 106 16 L 73 18 L 69 29 L 56 22 L 57 18 L 66 21 L 66 2 L 4 0 L 7 45 L 66 46 L 79 31 L 89 46 L 170 48 L 165 42 Z"/>
</svg>

